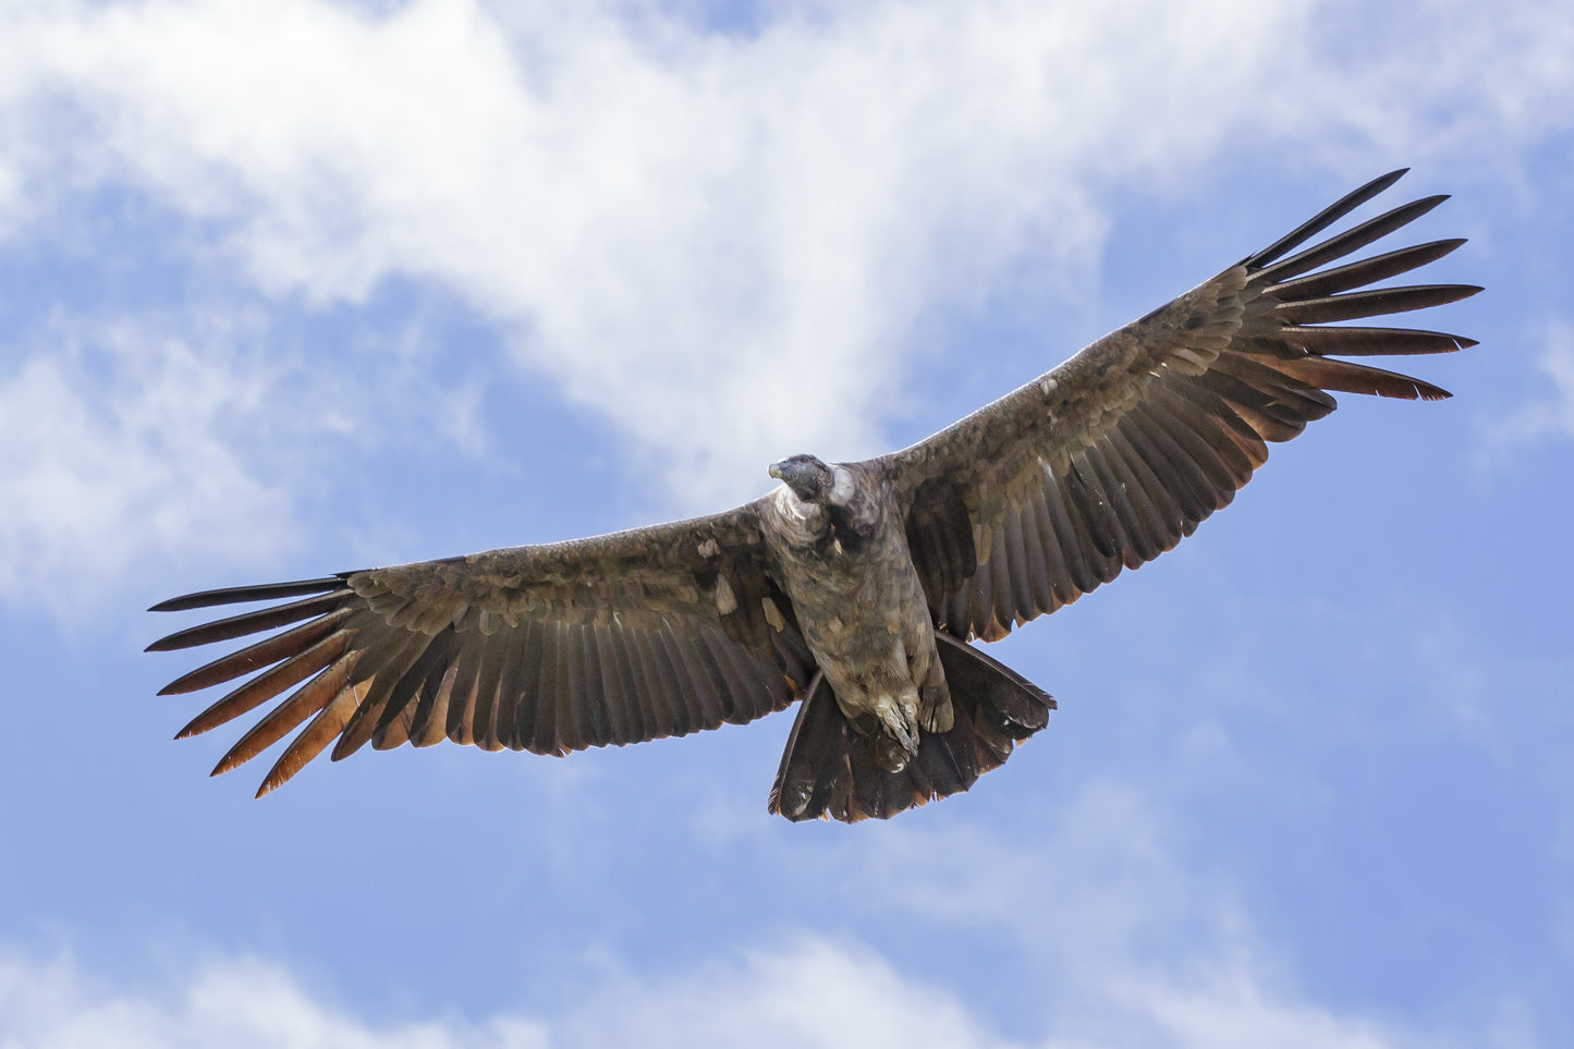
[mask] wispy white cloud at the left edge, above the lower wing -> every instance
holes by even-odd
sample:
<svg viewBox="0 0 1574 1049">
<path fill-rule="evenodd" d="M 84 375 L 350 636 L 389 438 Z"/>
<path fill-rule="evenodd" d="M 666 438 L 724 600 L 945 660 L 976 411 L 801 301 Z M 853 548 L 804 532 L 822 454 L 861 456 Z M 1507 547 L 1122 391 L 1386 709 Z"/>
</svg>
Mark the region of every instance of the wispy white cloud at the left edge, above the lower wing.
<svg viewBox="0 0 1574 1049">
<path fill-rule="evenodd" d="M 0 345 L 0 600 L 80 617 L 159 561 L 264 565 L 302 543 L 297 507 L 346 452 L 475 452 L 472 381 L 430 373 L 419 317 L 382 328 L 329 359 L 249 309 L 57 313 Z"/>
</svg>

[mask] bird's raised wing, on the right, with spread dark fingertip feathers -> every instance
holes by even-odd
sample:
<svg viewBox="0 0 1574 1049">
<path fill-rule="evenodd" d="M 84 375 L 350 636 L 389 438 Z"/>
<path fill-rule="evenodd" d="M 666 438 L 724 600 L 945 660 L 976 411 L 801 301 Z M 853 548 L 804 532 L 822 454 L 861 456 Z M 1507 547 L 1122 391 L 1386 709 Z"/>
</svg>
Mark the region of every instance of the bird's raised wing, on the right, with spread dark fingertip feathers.
<svg viewBox="0 0 1574 1049">
<path fill-rule="evenodd" d="M 1283 239 L 929 439 L 878 461 L 910 499 L 908 545 L 938 624 L 993 641 L 1135 569 L 1226 506 L 1328 391 L 1437 400 L 1431 383 L 1336 358 L 1447 353 L 1470 339 L 1333 326 L 1481 288 L 1371 288 L 1459 247 L 1432 241 L 1324 269 L 1447 197 L 1299 250 L 1391 186 L 1385 175 Z M 1295 254 L 1291 254 L 1295 252 Z"/>
</svg>

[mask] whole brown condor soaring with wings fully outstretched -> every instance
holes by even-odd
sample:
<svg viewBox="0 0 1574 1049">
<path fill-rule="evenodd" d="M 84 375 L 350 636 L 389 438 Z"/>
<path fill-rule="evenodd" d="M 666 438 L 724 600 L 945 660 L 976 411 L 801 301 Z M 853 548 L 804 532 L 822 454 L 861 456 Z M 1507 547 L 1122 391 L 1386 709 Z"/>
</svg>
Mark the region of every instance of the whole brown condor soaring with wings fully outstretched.
<svg viewBox="0 0 1574 1049">
<path fill-rule="evenodd" d="M 1262 466 L 1269 441 L 1333 411 L 1330 391 L 1448 397 L 1344 358 L 1473 340 L 1336 323 L 1481 290 L 1371 287 L 1462 239 L 1341 261 L 1445 197 L 1306 246 L 1401 175 L 911 447 L 774 463 L 781 484 L 737 509 L 154 605 L 268 602 L 148 646 L 157 652 L 290 627 L 161 695 L 250 674 L 179 737 L 274 704 L 214 769 L 294 732 L 258 797 L 329 745 L 334 761 L 368 742 L 444 739 L 565 754 L 793 702 L 770 811 L 886 819 L 966 791 L 1055 707 L 973 641 L 996 641 L 1190 536 Z"/>
</svg>

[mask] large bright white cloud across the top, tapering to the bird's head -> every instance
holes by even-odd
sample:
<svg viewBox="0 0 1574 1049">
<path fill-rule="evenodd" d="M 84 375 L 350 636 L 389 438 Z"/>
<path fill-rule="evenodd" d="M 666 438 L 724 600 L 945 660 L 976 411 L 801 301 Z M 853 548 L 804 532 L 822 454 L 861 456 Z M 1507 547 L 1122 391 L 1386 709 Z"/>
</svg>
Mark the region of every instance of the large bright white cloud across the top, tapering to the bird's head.
<svg viewBox="0 0 1574 1049">
<path fill-rule="evenodd" d="M 13 2 L 0 208 L 131 183 L 268 290 L 442 282 L 708 507 L 782 452 L 878 450 L 926 310 L 1023 258 L 1086 288 L 1107 184 L 1234 143 L 1502 164 L 1566 128 L 1555 6 L 1434 5 L 1369 55 L 1369 11 L 1313 0 L 806 5 L 748 36 L 612 3 Z"/>
</svg>

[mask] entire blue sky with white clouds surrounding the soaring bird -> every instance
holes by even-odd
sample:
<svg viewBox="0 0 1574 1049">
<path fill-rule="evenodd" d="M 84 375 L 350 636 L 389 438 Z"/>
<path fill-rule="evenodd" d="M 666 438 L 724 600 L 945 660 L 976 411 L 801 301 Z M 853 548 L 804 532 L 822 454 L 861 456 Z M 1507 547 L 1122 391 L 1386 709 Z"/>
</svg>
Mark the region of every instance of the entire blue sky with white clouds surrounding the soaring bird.
<svg viewBox="0 0 1574 1049">
<path fill-rule="evenodd" d="M 0 0 L 0 1043 L 1574 1040 L 1560 3 Z M 1050 728 L 790 825 L 790 726 L 250 800 L 142 610 L 940 428 L 1393 167 L 1445 403 L 1343 397 L 992 654 Z"/>
</svg>

